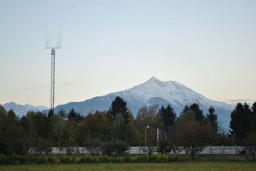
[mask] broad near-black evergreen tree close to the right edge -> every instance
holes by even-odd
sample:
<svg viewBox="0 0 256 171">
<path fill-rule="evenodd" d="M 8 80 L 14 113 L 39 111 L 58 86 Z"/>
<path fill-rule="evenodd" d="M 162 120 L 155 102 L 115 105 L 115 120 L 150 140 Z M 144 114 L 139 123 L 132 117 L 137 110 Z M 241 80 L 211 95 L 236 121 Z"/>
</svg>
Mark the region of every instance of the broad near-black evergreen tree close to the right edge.
<svg viewBox="0 0 256 171">
<path fill-rule="evenodd" d="M 230 131 L 232 134 L 236 134 L 238 139 L 243 139 L 247 134 L 250 133 L 250 117 L 251 117 L 251 110 L 249 105 L 246 103 L 242 105 L 238 103 L 236 108 L 231 113 L 231 120 L 229 127 L 232 129 Z"/>
</svg>

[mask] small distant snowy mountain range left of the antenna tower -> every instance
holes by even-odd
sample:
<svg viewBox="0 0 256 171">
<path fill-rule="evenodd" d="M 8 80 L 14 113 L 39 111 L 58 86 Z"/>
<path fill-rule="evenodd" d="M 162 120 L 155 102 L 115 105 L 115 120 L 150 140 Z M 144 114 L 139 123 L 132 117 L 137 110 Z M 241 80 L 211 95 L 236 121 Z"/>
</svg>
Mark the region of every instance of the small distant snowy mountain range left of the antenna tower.
<svg viewBox="0 0 256 171">
<path fill-rule="evenodd" d="M 19 116 L 22 117 L 24 114 L 26 114 L 29 110 L 34 111 L 34 112 L 38 112 L 38 111 L 42 111 L 42 110 L 47 110 L 49 109 L 46 106 L 34 106 L 34 105 L 19 105 L 16 104 L 15 102 L 7 102 L 2 104 L 2 106 L 8 111 L 10 109 L 13 109 L 14 113 Z"/>
</svg>

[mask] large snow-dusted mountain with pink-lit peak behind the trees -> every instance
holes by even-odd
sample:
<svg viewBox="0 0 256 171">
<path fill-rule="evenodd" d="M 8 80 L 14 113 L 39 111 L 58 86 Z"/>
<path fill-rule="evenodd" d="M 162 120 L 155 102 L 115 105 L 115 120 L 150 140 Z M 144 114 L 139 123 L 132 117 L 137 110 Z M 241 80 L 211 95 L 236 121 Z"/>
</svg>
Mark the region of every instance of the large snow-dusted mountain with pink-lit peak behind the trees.
<svg viewBox="0 0 256 171">
<path fill-rule="evenodd" d="M 136 116 L 142 106 L 153 104 L 158 104 L 159 106 L 171 104 L 177 114 L 179 114 L 186 104 L 191 105 L 194 102 L 200 105 L 204 114 L 207 114 L 209 107 L 213 106 L 216 114 L 218 114 L 218 119 L 222 122 L 222 126 L 225 127 L 229 125 L 230 113 L 233 110 L 233 105 L 210 100 L 179 82 L 163 82 L 158 78 L 152 77 L 146 83 L 139 84 L 124 91 L 109 93 L 108 95 L 94 97 L 93 99 L 82 102 L 69 102 L 64 105 L 58 105 L 55 111 L 63 108 L 68 112 L 71 108 L 74 108 L 79 113 L 88 114 L 92 109 L 94 111 L 108 110 L 116 96 L 122 97 L 127 102 L 134 116 Z"/>
</svg>

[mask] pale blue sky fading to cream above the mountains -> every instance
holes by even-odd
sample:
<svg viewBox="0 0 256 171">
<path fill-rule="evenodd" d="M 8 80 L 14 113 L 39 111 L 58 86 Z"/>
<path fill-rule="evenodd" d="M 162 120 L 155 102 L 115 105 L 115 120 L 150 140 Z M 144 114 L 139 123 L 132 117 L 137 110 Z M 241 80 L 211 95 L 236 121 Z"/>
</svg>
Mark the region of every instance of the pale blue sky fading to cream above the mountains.
<svg viewBox="0 0 256 171">
<path fill-rule="evenodd" d="M 212 100 L 256 101 L 256 1 L 0 1 L 0 102 L 55 106 L 152 76 Z"/>
</svg>

